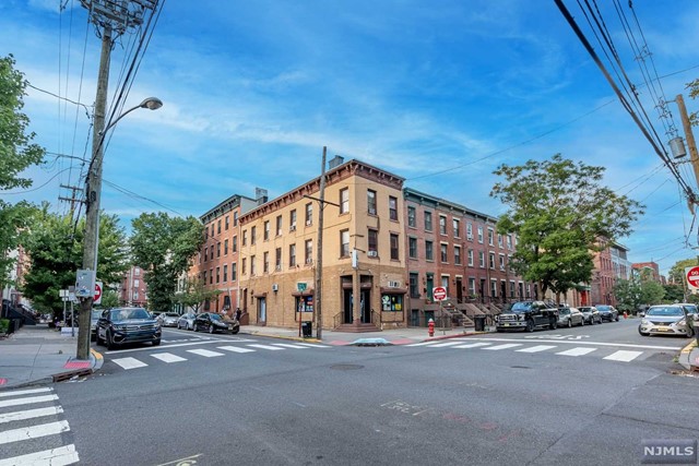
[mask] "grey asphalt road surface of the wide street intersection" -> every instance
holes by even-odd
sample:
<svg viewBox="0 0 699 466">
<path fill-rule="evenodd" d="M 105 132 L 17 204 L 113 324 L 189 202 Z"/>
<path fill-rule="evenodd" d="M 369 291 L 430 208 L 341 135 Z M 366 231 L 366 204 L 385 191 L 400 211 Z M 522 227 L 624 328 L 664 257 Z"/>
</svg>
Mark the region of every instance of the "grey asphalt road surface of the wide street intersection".
<svg viewBox="0 0 699 466">
<path fill-rule="evenodd" d="M 7 408 L 59 406 L 49 419 L 70 430 L 0 440 L 0 458 L 22 444 L 74 445 L 90 465 L 639 464 L 644 439 L 697 439 L 699 425 L 698 380 L 673 374 L 667 349 L 688 339 L 637 325 L 393 347 L 168 330 L 157 348 L 107 351 L 57 399 Z"/>
</svg>

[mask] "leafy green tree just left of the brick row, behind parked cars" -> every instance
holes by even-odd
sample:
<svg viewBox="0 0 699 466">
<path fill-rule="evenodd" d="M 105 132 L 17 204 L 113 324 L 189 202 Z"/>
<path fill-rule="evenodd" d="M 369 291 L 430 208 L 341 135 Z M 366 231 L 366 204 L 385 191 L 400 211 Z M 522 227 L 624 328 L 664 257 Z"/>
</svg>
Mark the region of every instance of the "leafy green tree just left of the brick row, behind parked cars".
<svg viewBox="0 0 699 466">
<path fill-rule="evenodd" d="M 173 307 L 177 278 L 204 242 L 204 227 L 194 217 L 169 217 L 163 212 L 141 214 L 132 220 L 131 254 L 145 272 L 149 306 L 167 312 Z"/>
</svg>

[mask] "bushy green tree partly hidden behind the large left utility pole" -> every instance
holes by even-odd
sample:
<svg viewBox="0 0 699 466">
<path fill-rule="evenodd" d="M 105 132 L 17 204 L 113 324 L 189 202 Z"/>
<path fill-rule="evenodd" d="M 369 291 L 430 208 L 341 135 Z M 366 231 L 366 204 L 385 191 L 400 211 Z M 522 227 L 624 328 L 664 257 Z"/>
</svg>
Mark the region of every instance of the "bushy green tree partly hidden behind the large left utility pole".
<svg viewBox="0 0 699 466">
<path fill-rule="evenodd" d="M 63 303 L 58 297 L 60 289 L 75 284 L 75 272 L 82 266 L 84 219 L 75 225 L 70 217 L 49 212 L 44 203 L 32 217 L 25 249 L 31 267 L 25 275 L 23 292 L 34 306 L 60 314 Z M 97 279 L 119 283 L 129 267 L 127 238 L 116 216 L 99 217 L 99 260 Z"/>
</svg>

